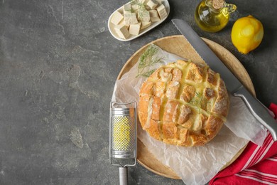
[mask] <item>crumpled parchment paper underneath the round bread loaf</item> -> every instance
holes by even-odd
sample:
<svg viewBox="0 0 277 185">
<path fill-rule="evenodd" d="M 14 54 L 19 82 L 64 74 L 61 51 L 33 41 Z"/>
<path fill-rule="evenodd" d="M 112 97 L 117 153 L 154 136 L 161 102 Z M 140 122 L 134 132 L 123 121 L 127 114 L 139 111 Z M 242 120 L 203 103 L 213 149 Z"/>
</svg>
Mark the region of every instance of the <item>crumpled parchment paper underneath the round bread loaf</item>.
<svg viewBox="0 0 277 185">
<path fill-rule="evenodd" d="M 161 65 L 184 60 L 172 53 L 158 48 L 158 53 L 153 57 L 162 58 L 163 63 L 156 63 L 149 70 Z M 139 62 L 120 80 L 116 80 L 112 101 L 139 102 L 139 90 L 146 77 L 138 75 Z M 177 147 L 164 144 L 150 137 L 138 123 L 138 137 L 156 159 L 169 166 L 178 174 L 185 184 L 205 184 L 222 167 L 243 148 L 249 140 L 256 144 L 263 144 L 266 129 L 251 115 L 240 97 L 230 97 L 230 108 L 227 122 L 222 126 L 216 137 L 202 147 Z"/>
</svg>

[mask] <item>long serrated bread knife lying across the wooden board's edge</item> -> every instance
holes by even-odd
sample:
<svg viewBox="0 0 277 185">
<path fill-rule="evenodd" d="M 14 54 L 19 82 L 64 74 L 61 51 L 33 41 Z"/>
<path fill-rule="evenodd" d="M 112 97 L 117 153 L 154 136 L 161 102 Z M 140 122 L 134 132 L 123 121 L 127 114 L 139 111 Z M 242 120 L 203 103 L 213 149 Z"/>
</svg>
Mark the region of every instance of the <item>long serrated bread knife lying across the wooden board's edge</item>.
<svg viewBox="0 0 277 185">
<path fill-rule="evenodd" d="M 214 54 L 214 52 L 207 46 L 207 44 L 200 38 L 200 36 L 193 31 L 193 29 L 185 21 L 175 18 L 172 20 L 174 25 L 178 28 L 180 33 L 185 36 L 188 42 L 195 48 L 195 51 L 200 57 L 210 66 L 212 70 L 220 74 L 220 77 L 224 80 L 227 90 L 232 95 L 241 97 L 246 103 L 250 112 L 261 125 L 264 125 L 266 129 L 271 133 L 273 140 L 277 140 L 277 122 L 269 114 L 266 107 L 253 97 L 244 85 L 233 75 L 233 73 L 222 63 L 222 61 Z"/>
</svg>

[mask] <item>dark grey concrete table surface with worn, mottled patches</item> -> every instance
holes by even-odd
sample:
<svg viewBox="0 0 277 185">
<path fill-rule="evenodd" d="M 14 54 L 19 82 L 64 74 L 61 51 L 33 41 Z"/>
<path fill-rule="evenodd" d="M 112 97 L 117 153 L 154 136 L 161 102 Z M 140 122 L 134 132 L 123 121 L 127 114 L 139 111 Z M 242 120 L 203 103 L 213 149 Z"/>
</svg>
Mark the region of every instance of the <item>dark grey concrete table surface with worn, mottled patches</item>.
<svg viewBox="0 0 277 185">
<path fill-rule="evenodd" d="M 126 60 L 146 43 L 180 34 L 171 18 L 231 51 L 248 71 L 256 95 L 277 103 L 275 0 L 237 4 L 224 30 L 201 31 L 199 1 L 169 0 L 168 19 L 134 41 L 109 33 L 109 15 L 127 1 L 0 1 L 0 184 L 118 184 L 109 164 L 109 102 Z M 234 21 L 251 14 L 264 24 L 259 48 L 241 55 L 232 45 Z M 140 164 L 130 184 L 183 184 Z"/>
</svg>

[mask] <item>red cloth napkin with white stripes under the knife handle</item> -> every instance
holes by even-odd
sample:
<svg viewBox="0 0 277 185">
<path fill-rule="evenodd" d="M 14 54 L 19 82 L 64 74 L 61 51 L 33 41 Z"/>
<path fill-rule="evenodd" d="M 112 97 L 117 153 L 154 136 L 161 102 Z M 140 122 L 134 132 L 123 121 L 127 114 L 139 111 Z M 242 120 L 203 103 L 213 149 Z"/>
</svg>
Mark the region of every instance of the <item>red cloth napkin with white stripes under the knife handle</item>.
<svg viewBox="0 0 277 185">
<path fill-rule="evenodd" d="M 277 119 L 277 105 L 271 103 L 269 110 Z M 269 132 L 263 146 L 249 142 L 239 158 L 209 184 L 277 184 L 277 142 Z"/>
</svg>

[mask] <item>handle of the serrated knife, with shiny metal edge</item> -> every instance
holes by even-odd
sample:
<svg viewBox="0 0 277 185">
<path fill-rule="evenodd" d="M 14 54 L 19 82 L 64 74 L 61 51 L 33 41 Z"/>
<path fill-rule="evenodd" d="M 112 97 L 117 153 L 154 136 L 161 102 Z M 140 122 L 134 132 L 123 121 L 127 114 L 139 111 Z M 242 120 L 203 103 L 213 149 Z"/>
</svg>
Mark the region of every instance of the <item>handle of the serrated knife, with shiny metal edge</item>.
<svg viewBox="0 0 277 185">
<path fill-rule="evenodd" d="M 271 133 L 271 136 L 274 141 L 277 140 L 277 122 L 274 118 L 269 114 L 266 107 L 255 97 L 253 97 L 248 90 L 244 87 L 241 87 L 234 93 L 234 96 L 241 97 L 244 100 L 245 104 L 249 108 L 250 112 L 256 120 L 258 120 L 261 125 L 264 125 L 266 129 Z"/>
</svg>

